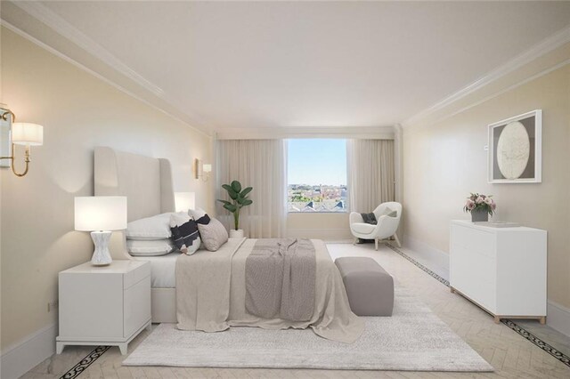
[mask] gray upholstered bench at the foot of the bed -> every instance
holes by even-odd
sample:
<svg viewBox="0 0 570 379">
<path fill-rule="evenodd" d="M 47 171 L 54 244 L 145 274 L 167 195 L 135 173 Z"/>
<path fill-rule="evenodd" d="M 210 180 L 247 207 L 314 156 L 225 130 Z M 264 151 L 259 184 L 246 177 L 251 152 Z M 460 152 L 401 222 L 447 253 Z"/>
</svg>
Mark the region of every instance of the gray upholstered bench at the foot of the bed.
<svg viewBox="0 0 570 379">
<path fill-rule="evenodd" d="M 357 316 L 392 316 L 394 278 L 372 258 L 342 257 L 335 261 L 345 282 L 350 309 Z"/>
</svg>

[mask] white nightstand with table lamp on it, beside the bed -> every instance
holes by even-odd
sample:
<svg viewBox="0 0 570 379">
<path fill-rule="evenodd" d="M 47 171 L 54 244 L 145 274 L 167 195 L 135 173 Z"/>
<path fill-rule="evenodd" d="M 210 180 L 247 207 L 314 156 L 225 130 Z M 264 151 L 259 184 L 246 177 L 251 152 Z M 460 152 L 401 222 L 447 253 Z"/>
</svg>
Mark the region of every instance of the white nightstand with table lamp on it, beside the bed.
<svg viewBox="0 0 570 379">
<path fill-rule="evenodd" d="M 65 345 L 126 346 L 143 328 L 151 330 L 151 263 L 113 261 L 80 264 L 60 272 L 60 335 Z"/>
</svg>

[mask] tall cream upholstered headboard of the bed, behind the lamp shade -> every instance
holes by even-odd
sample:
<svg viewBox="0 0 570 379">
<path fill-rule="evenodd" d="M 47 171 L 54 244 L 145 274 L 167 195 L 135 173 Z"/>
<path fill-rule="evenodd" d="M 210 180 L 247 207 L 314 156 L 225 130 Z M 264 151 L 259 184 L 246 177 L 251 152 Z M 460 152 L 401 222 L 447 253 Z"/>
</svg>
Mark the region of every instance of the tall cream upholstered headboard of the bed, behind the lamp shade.
<svg viewBox="0 0 570 379">
<path fill-rule="evenodd" d="M 95 148 L 95 196 L 126 196 L 129 222 L 175 211 L 170 162 Z"/>
</svg>

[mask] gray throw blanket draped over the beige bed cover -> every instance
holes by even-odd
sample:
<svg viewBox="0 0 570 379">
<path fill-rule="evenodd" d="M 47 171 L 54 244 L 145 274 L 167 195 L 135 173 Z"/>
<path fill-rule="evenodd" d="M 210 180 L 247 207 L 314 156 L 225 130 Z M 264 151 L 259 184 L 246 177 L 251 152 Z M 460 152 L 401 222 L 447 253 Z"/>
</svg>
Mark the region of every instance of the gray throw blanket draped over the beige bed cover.
<svg viewBox="0 0 570 379">
<path fill-rule="evenodd" d="M 310 240 L 258 239 L 246 261 L 246 310 L 264 319 L 311 319 L 315 270 Z"/>
</svg>

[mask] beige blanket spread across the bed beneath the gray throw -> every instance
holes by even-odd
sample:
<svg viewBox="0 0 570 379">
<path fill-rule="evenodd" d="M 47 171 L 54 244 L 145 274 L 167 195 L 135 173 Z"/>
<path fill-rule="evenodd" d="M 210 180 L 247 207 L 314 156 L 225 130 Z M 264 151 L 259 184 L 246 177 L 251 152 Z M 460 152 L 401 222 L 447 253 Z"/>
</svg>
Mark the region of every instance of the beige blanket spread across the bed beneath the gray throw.
<svg viewBox="0 0 570 379">
<path fill-rule="evenodd" d="M 310 319 L 260 318 L 246 310 L 246 262 L 256 239 L 230 239 L 217 252 L 199 250 L 176 261 L 176 314 L 179 329 L 217 332 L 228 327 L 286 329 L 312 327 L 317 335 L 353 343 L 364 321 L 350 310 L 345 286 L 327 247 L 315 249 L 314 310 Z"/>
</svg>

